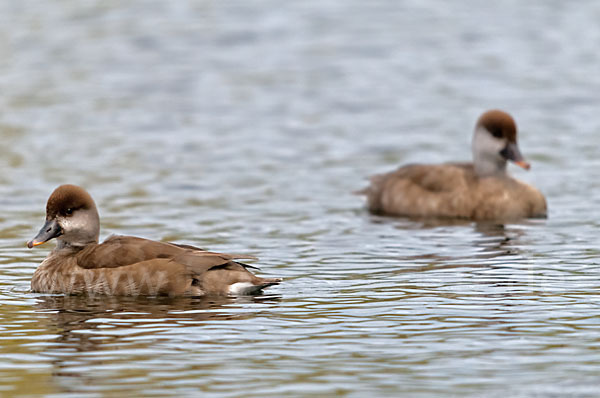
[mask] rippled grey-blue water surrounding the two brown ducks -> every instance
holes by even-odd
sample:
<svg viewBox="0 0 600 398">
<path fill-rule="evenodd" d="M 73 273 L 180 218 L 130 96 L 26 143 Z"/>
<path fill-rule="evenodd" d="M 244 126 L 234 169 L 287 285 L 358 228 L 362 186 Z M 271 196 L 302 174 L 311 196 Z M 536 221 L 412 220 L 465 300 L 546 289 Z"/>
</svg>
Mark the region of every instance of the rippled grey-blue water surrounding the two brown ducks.
<svg viewBox="0 0 600 398">
<path fill-rule="evenodd" d="M 600 4 L 0 2 L 0 395 L 597 395 Z M 373 217 L 510 111 L 547 221 Z M 261 258 L 255 298 L 32 294 L 49 193 Z"/>
</svg>

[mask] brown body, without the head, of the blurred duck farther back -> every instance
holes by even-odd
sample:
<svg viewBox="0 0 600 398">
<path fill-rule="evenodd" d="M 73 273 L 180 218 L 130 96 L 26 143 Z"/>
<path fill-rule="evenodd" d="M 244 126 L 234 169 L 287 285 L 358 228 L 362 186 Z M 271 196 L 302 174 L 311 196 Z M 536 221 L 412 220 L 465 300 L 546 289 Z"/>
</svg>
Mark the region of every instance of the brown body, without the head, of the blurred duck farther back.
<svg viewBox="0 0 600 398">
<path fill-rule="evenodd" d="M 479 177 L 471 163 L 412 164 L 371 178 L 372 213 L 416 218 L 513 220 L 546 216 L 534 187 L 509 176 Z"/>
</svg>

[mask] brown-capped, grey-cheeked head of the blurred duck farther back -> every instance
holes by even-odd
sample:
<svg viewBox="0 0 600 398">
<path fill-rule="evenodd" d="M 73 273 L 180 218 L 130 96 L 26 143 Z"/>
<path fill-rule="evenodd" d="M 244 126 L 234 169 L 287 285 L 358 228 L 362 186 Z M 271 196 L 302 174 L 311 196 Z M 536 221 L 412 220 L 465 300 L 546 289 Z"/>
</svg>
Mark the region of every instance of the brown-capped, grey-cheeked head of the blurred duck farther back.
<svg viewBox="0 0 600 398">
<path fill-rule="evenodd" d="M 480 176 L 505 173 L 508 160 L 529 170 L 517 145 L 517 125 L 506 112 L 494 109 L 481 115 L 472 145 L 475 172 Z"/>
</svg>

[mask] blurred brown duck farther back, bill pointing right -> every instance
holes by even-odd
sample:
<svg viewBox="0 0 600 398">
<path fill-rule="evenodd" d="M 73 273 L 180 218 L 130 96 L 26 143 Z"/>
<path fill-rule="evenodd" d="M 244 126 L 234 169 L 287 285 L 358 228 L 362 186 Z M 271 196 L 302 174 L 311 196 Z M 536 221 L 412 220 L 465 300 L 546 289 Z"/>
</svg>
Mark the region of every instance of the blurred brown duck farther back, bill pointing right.
<svg viewBox="0 0 600 398">
<path fill-rule="evenodd" d="M 471 149 L 472 162 L 408 164 L 372 176 L 358 193 L 366 195 L 368 210 L 378 215 L 498 222 L 547 217 L 544 195 L 507 173 L 509 161 L 530 169 L 510 114 L 484 112 Z"/>
</svg>

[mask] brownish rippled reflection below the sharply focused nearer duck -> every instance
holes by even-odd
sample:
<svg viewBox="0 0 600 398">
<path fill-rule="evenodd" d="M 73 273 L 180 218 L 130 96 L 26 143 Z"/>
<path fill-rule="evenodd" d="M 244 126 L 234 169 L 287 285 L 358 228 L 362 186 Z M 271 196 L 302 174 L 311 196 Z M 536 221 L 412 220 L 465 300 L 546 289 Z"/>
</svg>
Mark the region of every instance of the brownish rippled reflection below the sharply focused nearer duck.
<svg viewBox="0 0 600 398">
<path fill-rule="evenodd" d="M 41 296 L 36 304 L 40 321 L 57 337 L 45 350 L 51 358 L 53 383 L 61 392 L 80 391 L 114 377 L 96 372 L 98 366 L 123 366 L 133 360 L 131 350 L 149 357 L 156 344 L 172 344 L 172 333 L 181 329 L 184 344 L 206 342 L 211 322 L 239 321 L 277 305 L 280 296 L 107 297 Z M 183 329 L 189 330 L 183 330 Z M 191 333 L 190 333 L 191 331 Z M 210 332 L 208 334 L 211 334 Z M 126 350 L 121 355 L 117 350 Z M 150 352 L 150 353 L 148 353 Z M 91 354 L 91 355 L 90 355 Z M 129 359 L 127 359 L 129 358 Z M 135 369 L 144 377 L 147 369 Z"/>
</svg>

